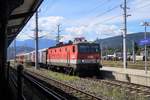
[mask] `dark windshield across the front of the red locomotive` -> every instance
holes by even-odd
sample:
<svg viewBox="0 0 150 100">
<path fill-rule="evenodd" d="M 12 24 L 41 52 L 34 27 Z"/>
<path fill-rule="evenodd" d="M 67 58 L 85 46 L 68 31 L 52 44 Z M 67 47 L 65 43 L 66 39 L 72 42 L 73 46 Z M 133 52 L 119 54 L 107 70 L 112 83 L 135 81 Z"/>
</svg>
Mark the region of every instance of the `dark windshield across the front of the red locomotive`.
<svg viewBox="0 0 150 100">
<path fill-rule="evenodd" d="M 80 44 L 79 52 L 80 53 L 98 53 L 99 45 L 98 44 Z"/>
</svg>

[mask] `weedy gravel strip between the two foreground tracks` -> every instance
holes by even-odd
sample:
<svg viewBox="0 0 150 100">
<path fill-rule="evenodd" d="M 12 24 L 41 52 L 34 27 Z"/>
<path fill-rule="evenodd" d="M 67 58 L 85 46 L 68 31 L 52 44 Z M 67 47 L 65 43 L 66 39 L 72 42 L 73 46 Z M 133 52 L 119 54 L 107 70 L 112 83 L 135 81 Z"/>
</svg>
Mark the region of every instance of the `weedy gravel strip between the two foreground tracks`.
<svg viewBox="0 0 150 100">
<path fill-rule="evenodd" d="M 150 100 L 149 95 L 144 95 L 137 91 L 130 91 L 126 88 L 111 86 L 100 81 L 79 78 L 77 76 L 68 76 L 45 69 L 34 70 L 33 68 L 26 68 L 26 70 L 56 79 L 95 96 L 106 96 L 108 100 Z"/>
</svg>

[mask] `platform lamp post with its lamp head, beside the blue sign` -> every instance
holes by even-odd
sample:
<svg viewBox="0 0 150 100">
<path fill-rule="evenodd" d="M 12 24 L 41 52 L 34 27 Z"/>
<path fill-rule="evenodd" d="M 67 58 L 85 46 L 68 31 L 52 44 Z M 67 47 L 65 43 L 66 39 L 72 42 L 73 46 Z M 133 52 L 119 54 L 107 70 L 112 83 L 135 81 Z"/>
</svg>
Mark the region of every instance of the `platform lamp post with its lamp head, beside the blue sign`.
<svg viewBox="0 0 150 100">
<path fill-rule="evenodd" d="M 142 26 L 144 26 L 144 39 L 146 40 L 146 31 L 147 31 L 147 26 L 150 26 L 150 22 L 142 22 Z M 144 56 L 145 56 L 145 73 L 147 74 L 147 46 L 146 43 L 144 44 Z"/>
</svg>

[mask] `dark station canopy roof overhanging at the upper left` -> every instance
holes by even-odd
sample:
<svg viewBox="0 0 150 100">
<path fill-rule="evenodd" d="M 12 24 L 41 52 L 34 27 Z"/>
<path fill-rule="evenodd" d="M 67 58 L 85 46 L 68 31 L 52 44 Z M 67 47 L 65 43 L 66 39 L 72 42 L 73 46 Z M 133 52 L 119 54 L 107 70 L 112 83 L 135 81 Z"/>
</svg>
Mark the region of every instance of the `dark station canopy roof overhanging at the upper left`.
<svg viewBox="0 0 150 100">
<path fill-rule="evenodd" d="M 11 13 L 8 20 L 8 45 L 23 29 L 43 0 L 24 0 L 23 4 Z"/>
</svg>

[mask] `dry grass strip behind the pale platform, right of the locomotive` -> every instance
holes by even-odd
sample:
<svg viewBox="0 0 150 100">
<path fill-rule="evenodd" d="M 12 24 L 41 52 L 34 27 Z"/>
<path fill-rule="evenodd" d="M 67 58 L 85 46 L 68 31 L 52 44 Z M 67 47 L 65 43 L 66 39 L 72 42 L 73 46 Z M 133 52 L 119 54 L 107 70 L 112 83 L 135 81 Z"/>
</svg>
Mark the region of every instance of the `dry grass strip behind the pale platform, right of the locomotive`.
<svg viewBox="0 0 150 100">
<path fill-rule="evenodd" d="M 144 64 L 145 64 L 144 61 L 136 61 L 135 63 L 133 63 L 132 61 L 127 62 L 128 68 L 131 68 L 131 69 L 144 70 L 144 68 L 145 68 Z M 102 65 L 103 66 L 108 66 L 108 67 L 122 68 L 123 67 L 123 62 L 122 61 L 106 61 L 106 60 L 103 60 Z M 150 70 L 150 61 L 147 61 L 147 67 L 148 67 L 148 70 Z"/>
</svg>

